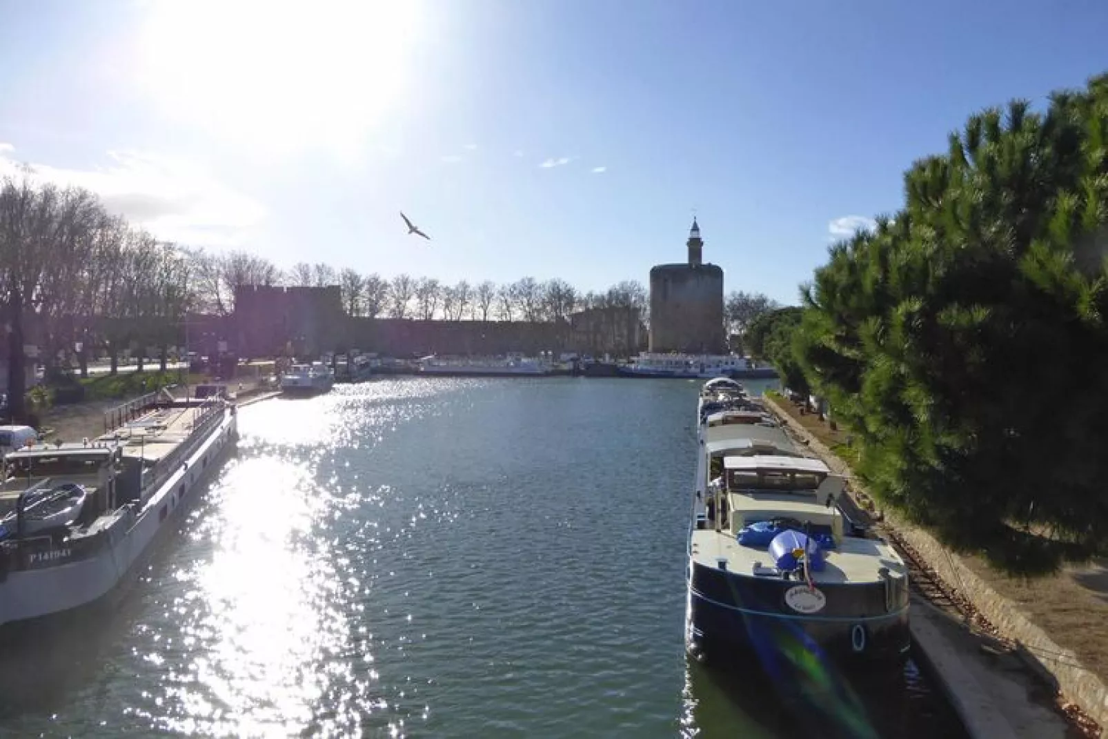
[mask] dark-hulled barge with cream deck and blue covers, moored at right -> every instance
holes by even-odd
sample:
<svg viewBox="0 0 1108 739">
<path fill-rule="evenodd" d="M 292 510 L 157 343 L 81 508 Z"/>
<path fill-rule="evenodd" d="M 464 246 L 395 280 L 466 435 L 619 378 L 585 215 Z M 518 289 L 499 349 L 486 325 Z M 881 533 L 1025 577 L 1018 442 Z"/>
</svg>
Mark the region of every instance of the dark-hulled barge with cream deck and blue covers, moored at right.
<svg viewBox="0 0 1108 739">
<path fill-rule="evenodd" d="M 756 401 L 706 412 L 704 396 L 718 402 L 719 390 L 706 388 L 698 409 L 689 650 L 900 664 L 911 647 L 904 562 L 845 516 L 845 481 Z"/>
</svg>

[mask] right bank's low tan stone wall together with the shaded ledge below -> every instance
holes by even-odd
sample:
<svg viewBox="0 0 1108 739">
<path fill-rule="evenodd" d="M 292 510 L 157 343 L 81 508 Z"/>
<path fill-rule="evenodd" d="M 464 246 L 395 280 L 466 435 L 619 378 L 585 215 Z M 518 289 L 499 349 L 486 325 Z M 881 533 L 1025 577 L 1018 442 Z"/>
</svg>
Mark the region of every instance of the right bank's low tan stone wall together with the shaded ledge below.
<svg viewBox="0 0 1108 739">
<path fill-rule="evenodd" d="M 851 495 L 860 509 L 875 511 L 873 500 L 842 459 L 773 399 L 766 398 L 765 401 L 790 432 L 834 473 L 849 480 Z M 1046 680 L 1060 694 L 1057 705 L 1073 727 L 1086 736 L 1100 736 L 1095 723 L 1108 726 L 1108 689 L 1080 664 L 1071 649 L 1050 639 L 1015 603 L 997 593 L 930 533 L 889 511 L 882 511 L 876 519 L 881 522 L 882 533 L 913 564 L 922 567 L 927 579 L 936 582 L 945 602 L 954 606 L 950 610 L 961 614 L 961 630 L 981 637 L 978 649 L 974 651 L 993 651 L 997 656 L 1006 651 L 1018 656 L 1027 669 L 1037 674 L 1038 679 Z M 1057 728 L 1049 726 L 1047 717 L 1027 712 L 1029 701 L 1026 692 L 1032 688 L 1028 687 L 1020 696 L 1014 689 L 1014 682 L 1018 680 L 1014 680 L 1010 670 L 997 669 L 998 664 L 995 663 L 989 665 L 988 661 L 970 659 L 972 655 L 964 650 L 961 655 L 957 654 L 960 649 L 952 650 L 952 642 L 957 647 L 958 637 L 943 627 L 936 614 L 941 609 L 920 598 L 914 598 L 913 604 L 919 606 L 913 608 L 912 614 L 913 636 L 944 681 L 952 704 L 973 736 L 1040 737 L 1056 733 Z"/>
</svg>

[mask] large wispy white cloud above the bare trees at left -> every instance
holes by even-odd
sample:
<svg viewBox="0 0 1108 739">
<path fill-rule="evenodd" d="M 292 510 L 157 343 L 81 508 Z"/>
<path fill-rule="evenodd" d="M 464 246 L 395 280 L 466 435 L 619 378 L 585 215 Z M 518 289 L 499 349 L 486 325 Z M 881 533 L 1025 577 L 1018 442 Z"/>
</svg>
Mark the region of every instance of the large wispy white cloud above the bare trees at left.
<svg viewBox="0 0 1108 739">
<path fill-rule="evenodd" d="M 0 176 L 18 175 L 14 146 L 0 144 Z M 224 184 L 192 161 L 140 152 L 107 152 L 93 170 L 29 163 L 39 182 L 84 187 L 104 206 L 160 238 L 195 246 L 242 244 L 266 216 L 253 197 Z"/>
</svg>

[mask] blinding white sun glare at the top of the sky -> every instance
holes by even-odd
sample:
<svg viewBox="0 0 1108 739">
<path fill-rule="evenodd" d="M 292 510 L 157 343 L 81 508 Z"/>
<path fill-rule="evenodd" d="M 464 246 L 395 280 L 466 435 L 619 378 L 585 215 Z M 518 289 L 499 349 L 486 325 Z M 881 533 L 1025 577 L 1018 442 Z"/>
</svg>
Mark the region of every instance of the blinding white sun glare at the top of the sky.
<svg viewBox="0 0 1108 739">
<path fill-rule="evenodd" d="M 409 86 L 411 0 L 164 0 L 141 40 L 171 115 L 266 152 L 356 150 Z"/>
</svg>

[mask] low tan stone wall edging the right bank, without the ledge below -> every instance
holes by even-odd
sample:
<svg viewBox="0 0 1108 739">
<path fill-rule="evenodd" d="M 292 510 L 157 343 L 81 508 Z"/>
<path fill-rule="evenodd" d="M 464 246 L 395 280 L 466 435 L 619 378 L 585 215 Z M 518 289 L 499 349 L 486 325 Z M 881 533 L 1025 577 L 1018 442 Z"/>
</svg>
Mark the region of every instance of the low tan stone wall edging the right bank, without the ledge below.
<svg viewBox="0 0 1108 739">
<path fill-rule="evenodd" d="M 854 490 L 864 487 L 853 476 L 850 466 L 819 439 L 813 437 L 796 419 L 766 398 L 766 404 L 773 413 L 803 439 L 837 474 L 850 479 Z M 1108 688 L 1091 671 L 1086 669 L 1077 655 L 1057 643 L 1033 624 L 1009 598 L 997 593 L 988 583 L 973 572 L 962 558 L 943 546 L 934 536 L 907 522 L 893 512 L 884 511 L 884 525 L 895 532 L 919 554 L 952 591 L 957 591 L 982 615 L 993 623 L 1005 638 L 1014 640 L 1023 656 L 1053 681 L 1068 700 L 1077 704 L 1101 727 L 1108 727 Z"/>
</svg>

